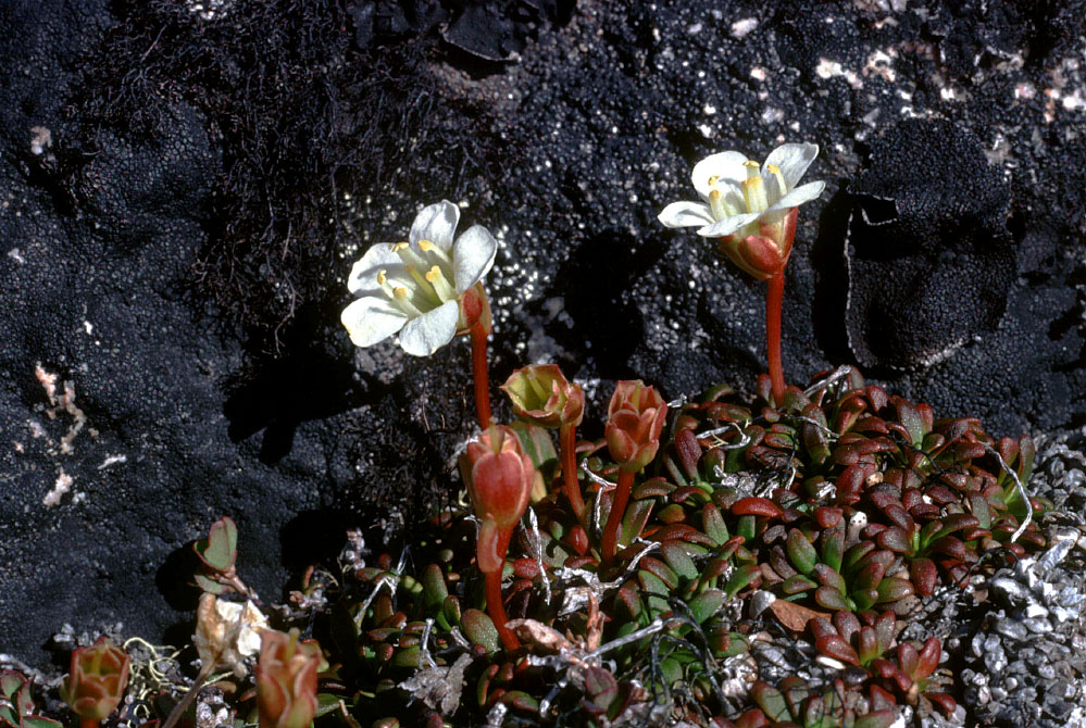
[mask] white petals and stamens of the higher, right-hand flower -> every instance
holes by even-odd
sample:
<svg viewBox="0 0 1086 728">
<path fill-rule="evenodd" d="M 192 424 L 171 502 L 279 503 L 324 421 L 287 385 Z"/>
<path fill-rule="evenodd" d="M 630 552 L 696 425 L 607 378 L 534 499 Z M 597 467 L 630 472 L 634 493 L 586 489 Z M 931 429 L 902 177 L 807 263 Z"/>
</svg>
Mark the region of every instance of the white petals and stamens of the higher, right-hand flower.
<svg viewBox="0 0 1086 728">
<path fill-rule="evenodd" d="M 817 155 L 817 145 L 802 143 L 777 147 L 761 167 L 739 152 L 707 156 L 691 174 L 702 202 L 673 202 L 659 219 L 667 227 L 697 226 L 707 238 L 759 235 L 761 225 L 775 225 L 822 194 L 824 181 L 796 187 Z"/>
</svg>

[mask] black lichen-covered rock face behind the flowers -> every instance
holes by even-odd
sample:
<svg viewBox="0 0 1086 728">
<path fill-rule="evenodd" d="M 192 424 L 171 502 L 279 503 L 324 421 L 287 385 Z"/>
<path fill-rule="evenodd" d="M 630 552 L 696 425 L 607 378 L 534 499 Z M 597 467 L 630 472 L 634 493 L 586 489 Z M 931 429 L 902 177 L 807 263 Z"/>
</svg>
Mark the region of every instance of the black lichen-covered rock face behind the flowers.
<svg viewBox="0 0 1086 728">
<path fill-rule="evenodd" d="M 859 360 L 997 435 L 1086 419 L 1082 1 L 539 2 L 500 38 L 455 3 L 204 4 L 0 8 L 0 652 L 41 663 L 65 623 L 183 643 L 183 554 L 221 515 L 278 600 L 347 527 L 454 498 L 464 342 L 355 351 L 338 323 L 351 262 L 442 198 L 502 243 L 494 382 L 556 361 L 587 436 L 616 378 L 752 389 L 762 287 L 656 215 L 702 156 L 785 141 L 827 181 L 791 379 Z M 900 255 L 849 242 L 864 194 L 923 201 Z"/>
</svg>

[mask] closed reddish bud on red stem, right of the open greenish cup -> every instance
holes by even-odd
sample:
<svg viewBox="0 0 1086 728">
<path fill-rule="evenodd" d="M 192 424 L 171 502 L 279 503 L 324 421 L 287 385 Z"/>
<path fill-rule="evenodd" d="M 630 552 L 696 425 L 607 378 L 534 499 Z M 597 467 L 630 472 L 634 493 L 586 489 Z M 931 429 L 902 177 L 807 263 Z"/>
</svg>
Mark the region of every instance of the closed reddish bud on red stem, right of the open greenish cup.
<svg viewBox="0 0 1086 728">
<path fill-rule="evenodd" d="M 607 445 L 619 466 L 636 473 L 652 462 L 667 416 L 660 392 L 640 379 L 621 380 L 607 414 Z"/>
</svg>

